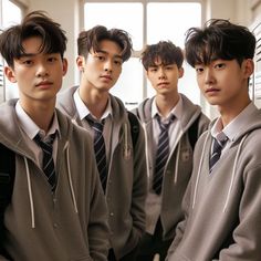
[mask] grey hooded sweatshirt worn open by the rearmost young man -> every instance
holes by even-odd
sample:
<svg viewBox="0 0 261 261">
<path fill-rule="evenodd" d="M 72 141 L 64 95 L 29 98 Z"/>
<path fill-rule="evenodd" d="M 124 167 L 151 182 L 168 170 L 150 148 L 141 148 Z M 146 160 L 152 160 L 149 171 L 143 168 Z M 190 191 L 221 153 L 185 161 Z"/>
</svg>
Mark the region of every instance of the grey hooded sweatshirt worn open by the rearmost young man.
<svg viewBox="0 0 261 261">
<path fill-rule="evenodd" d="M 187 188 L 191 169 L 192 169 L 192 147 L 188 137 L 188 129 L 198 119 L 197 136 L 208 128 L 209 119 L 201 113 L 198 105 L 192 104 L 185 95 L 180 94 L 182 100 L 182 117 L 180 119 L 180 136 L 176 138 L 175 145 L 170 147 L 170 154 L 164 170 L 161 208 L 156 210 L 154 196 L 148 194 L 146 200 L 146 231 L 154 233 L 156 222 L 160 216 L 163 225 L 163 239 L 170 240 L 175 236 L 175 228 L 182 219 L 181 201 Z M 145 100 L 134 113 L 143 123 L 146 137 L 146 161 L 148 174 L 147 177 L 154 175 L 155 157 L 154 157 L 154 134 L 152 104 L 153 98 Z M 152 179 L 150 179 L 152 180 Z M 152 186 L 149 186 L 152 187 Z M 156 216 L 156 217 L 155 217 Z"/>
</svg>

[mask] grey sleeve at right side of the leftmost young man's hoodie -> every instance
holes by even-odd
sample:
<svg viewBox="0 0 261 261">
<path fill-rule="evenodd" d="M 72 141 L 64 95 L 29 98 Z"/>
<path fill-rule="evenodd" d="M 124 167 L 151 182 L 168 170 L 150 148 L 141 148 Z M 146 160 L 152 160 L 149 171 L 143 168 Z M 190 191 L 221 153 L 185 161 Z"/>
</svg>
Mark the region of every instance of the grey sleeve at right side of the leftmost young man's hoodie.
<svg viewBox="0 0 261 261">
<path fill-rule="evenodd" d="M 92 160 L 95 163 L 94 155 Z M 87 223 L 88 247 L 92 260 L 107 260 L 109 248 L 108 212 L 95 164 L 92 164 L 92 194 L 90 205 L 90 218 Z M 88 169 L 90 171 L 90 169 Z M 87 186 L 90 188 L 90 186 Z"/>
</svg>

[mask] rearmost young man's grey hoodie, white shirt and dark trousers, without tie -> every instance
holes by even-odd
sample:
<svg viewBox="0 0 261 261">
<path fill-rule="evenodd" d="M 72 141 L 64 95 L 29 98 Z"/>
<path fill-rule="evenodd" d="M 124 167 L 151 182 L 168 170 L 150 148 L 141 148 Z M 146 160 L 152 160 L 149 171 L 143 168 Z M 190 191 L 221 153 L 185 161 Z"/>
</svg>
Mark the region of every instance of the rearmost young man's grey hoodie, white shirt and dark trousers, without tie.
<svg viewBox="0 0 261 261">
<path fill-rule="evenodd" d="M 175 119 L 168 129 L 170 153 L 164 170 L 161 194 L 157 195 L 153 189 L 153 177 L 156 147 L 160 133 L 157 115 L 160 116 L 160 114 L 157 111 L 155 97 L 145 100 L 133 112 L 143 123 L 146 137 L 149 187 L 145 206 L 145 237 L 147 239 L 150 237 L 150 243 L 148 242 L 147 247 L 146 243 L 140 246 L 140 260 L 145 260 L 145 255 L 148 255 L 149 260 L 149 254 L 154 255 L 155 252 L 159 252 L 161 255 L 166 254 L 175 237 L 176 226 L 182 219 L 181 200 L 192 169 L 194 145 L 190 144 L 189 128 L 197 121 L 196 134 L 194 135 L 198 138 L 207 129 L 209 119 L 202 114 L 198 105 L 192 104 L 185 95 L 180 94 L 178 104 L 167 116 L 167 121 L 171 115 Z"/>
</svg>

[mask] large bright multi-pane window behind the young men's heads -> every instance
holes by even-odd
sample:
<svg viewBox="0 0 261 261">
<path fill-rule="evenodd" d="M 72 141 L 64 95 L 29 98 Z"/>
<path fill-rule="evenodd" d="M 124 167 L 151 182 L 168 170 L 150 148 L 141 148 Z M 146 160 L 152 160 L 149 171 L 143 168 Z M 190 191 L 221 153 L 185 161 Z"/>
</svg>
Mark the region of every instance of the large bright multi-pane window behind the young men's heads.
<svg viewBox="0 0 261 261">
<path fill-rule="evenodd" d="M 126 30 L 133 39 L 133 58 L 124 63 L 123 73 L 112 88 L 114 95 L 122 98 L 128 108 L 133 108 L 145 97 L 154 95 L 154 90 L 146 81 L 139 61 L 143 46 L 160 40 L 170 40 L 184 48 L 185 32 L 190 27 L 201 25 L 201 3 L 200 1 L 86 1 L 84 4 L 85 30 L 97 24 L 108 29 Z M 186 94 L 196 104 L 200 104 L 200 92 L 195 72 L 186 62 L 184 67 L 185 76 L 179 81 L 179 92 Z"/>
</svg>

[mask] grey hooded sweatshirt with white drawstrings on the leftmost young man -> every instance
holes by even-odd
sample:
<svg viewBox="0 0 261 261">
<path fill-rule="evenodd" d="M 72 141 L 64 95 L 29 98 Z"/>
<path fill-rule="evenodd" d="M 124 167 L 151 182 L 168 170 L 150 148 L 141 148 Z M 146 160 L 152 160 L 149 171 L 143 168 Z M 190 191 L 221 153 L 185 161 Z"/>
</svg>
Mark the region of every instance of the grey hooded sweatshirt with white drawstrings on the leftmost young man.
<svg viewBox="0 0 261 261">
<path fill-rule="evenodd" d="M 107 211 L 90 135 L 56 111 L 58 185 L 51 187 L 22 139 L 17 101 L 0 106 L 0 143 L 15 154 L 15 178 L 4 212 L 3 249 L 15 261 L 105 261 Z M 0 260 L 8 260 L 0 255 Z"/>
</svg>

